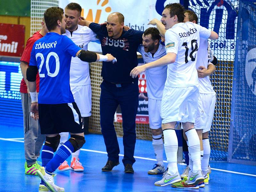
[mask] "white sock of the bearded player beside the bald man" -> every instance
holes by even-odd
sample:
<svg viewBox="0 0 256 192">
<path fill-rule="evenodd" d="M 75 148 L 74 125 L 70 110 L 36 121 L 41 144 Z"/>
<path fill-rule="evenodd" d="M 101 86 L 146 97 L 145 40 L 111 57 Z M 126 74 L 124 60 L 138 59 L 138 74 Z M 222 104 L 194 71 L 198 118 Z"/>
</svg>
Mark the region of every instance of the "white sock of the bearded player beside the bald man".
<svg viewBox="0 0 256 192">
<path fill-rule="evenodd" d="M 161 135 L 153 135 L 152 145 L 156 155 L 156 161 L 158 165 L 164 166 L 163 153 L 164 153 L 164 142 Z"/>
</svg>

